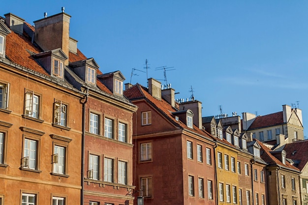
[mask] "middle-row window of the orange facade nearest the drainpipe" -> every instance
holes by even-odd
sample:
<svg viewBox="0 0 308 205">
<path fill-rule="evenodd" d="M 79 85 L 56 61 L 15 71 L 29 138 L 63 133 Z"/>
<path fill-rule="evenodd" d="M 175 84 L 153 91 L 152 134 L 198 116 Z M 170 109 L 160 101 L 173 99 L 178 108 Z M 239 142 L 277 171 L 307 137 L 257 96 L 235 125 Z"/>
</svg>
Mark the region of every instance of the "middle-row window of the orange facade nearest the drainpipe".
<svg viewBox="0 0 308 205">
<path fill-rule="evenodd" d="M 54 146 L 53 173 L 64 175 L 65 173 L 65 147 Z"/>
</svg>

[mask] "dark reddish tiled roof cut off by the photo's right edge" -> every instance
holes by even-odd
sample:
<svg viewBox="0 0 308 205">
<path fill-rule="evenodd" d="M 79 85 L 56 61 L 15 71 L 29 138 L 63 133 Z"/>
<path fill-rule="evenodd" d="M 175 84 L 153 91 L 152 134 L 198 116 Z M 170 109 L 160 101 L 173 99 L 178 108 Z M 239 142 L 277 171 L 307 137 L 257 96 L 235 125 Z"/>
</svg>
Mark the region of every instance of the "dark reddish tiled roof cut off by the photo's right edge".
<svg viewBox="0 0 308 205">
<path fill-rule="evenodd" d="M 297 168 L 303 170 L 308 162 L 308 140 L 297 141 L 294 143 L 286 144 L 283 150 L 287 153 L 287 158 L 299 160 Z"/>
</svg>

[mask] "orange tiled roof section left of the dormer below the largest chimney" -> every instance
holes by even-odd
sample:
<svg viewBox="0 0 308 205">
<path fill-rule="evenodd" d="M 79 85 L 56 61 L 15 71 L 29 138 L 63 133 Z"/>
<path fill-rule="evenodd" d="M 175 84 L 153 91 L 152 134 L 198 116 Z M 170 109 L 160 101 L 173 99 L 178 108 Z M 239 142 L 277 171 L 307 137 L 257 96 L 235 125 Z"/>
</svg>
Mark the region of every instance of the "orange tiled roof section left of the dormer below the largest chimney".
<svg viewBox="0 0 308 205">
<path fill-rule="evenodd" d="M 30 52 L 40 53 L 42 51 L 36 48 L 26 37 L 14 31 L 6 36 L 5 55 L 9 60 L 41 74 L 49 75 L 44 68 L 31 57 Z"/>
</svg>

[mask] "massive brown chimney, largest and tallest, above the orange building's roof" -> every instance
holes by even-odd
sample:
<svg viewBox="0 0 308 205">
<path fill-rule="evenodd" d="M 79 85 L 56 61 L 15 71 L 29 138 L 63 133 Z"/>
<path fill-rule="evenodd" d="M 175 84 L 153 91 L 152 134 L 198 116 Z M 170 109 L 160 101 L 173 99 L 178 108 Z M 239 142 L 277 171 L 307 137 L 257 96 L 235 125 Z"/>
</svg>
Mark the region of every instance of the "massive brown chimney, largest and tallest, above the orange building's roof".
<svg viewBox="0 0 308 205">
<path fill-rule="evenodd" d="M 44 51 L 61 48 L 64 54 L 69 56 L 69 21 L 70 15 L 59 13 L 37 21 L 34 21 L 34 41 Z M 69 59 L 64 64 L 68 65 Z"/>
</svg>

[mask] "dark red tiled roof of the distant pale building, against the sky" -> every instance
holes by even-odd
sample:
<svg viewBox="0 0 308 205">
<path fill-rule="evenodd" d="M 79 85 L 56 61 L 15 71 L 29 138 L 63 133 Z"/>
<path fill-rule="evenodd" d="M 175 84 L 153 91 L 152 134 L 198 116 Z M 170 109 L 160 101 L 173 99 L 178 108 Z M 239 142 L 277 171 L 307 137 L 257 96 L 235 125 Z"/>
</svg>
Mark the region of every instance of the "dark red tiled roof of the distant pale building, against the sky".
<svg viewBox="0 0 308 205">
<path fill-rule="evenodd" d="M 255 129 L 259 127 L 267 127 L 267 126 L 273 126 L 283 123 L 283 115 L 282 111 L 269 114 L 266 116 L 259 116 L 254 119 L 248 130 Z"/>
</svg>

